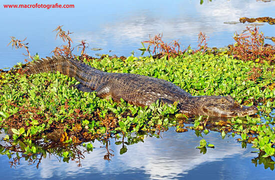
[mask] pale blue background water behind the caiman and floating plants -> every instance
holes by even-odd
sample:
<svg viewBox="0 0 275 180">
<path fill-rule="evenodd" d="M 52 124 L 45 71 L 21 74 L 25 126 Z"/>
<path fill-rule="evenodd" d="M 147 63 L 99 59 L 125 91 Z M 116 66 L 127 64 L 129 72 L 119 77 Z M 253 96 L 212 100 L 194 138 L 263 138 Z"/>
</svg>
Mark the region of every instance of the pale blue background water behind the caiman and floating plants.
<svg viewBox="0 0 275 180">
<path fill-rule="evenodd" d="M 2 3 L 17 4 L 19 0 Z M 29 4 L 36 3 L 29 0 Z M 55 0 L 48 0 L 55 4 Z M 208 45 L 222 47 L 233 43 L 235 31 L 242 31 L 246 24 L 225 24 L 225 21 L 238 21 L 240 17 L 273 16 L 275 1 L 263 2 L 256 0 L 212 0 L 201 5 L 200 0 L 165 1 L 139 0 L 133 3 L 129 0 L 112 1 L 97 0 L 59 0 L 59 4 L 74 4 L 75 8 L 3 8 L 0 10 L 0 68 L 10 67 L 25 58 L 23 49 L 11 49 L 6 46 L 10 36 L 18 39 L 27 37 L 29 50 L 41 56 L 52 55 L 55 46 L 62 41 L 55 39 L 52 32 L 57 25 L 64 25 L 64 30 L 71 34 L 74 46 L 80 40 L 87 40 L 89 47 L 101 47 L 103 50 L 88 49 L 89 55 L 108 53 L 130 55 L 134 50 L 136 55 L 141 52 L 141 41 L 148 40 L 149 34 L 163 33 L 167 42 L 179 39 L 182 48 L 191 44 L 196 48 L 198 34 L 206 32 L 209 36 Z M 274 25 L 265 23 L 260 30 L 267 36 L 274 36 Z M 272 43 L 271 40 L 267 40 Z M 112 50 L 109 52 L 109 50 Z M 79 53 L 79 52 L 78 52 Z"/>
</svg>

